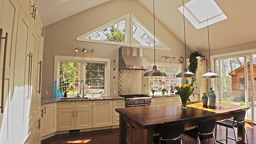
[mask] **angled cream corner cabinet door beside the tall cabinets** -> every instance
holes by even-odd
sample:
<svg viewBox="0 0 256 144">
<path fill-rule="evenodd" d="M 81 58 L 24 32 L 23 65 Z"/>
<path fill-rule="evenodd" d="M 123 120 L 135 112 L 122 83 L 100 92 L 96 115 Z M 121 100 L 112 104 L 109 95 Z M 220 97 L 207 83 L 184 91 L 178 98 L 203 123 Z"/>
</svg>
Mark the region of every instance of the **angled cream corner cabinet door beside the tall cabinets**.
<svg viewBox="0 0 256 144">
<path fill-rule="evenodd" d="M 54 103 L 46 104 L 44 106 L 44 114 L 43 114 L 43 136 L 51 134 L 55 132 L 55 124 L 56 121 L 55 116 L 56 107 Z"/>
</svg>

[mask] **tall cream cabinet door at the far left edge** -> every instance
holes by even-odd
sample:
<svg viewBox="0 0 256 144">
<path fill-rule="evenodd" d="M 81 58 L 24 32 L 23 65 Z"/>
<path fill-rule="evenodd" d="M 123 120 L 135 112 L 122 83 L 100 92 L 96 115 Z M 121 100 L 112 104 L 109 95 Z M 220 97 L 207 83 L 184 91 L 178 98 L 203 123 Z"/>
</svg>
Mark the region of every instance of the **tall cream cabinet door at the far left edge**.
<svg viewBox="0 0 256 144">
<path fill-rule="evenodd" d="M 3 101 L 3 112 L 0 113 L 0 143 L 13 143 L 13 68 L 16 34 L 19 16 L 19 3 L 17 0 L 1 0 L 0 2 L 0 28 L 3 29 L 3 36 L 8 33 L 7 47 L 5 54 L 5 77 L 3 79 L 5 39 L 2 39 L 0 49 L 0 101 Z M 4 99 L 1 99 L 2 84 L 4 82 Z M 23 106 L 21 107 L 23 108 Z M 2 110 L 1 109 L 1 110 Z M 9 114 L 7 114 L 9 112 Z"/>
</svg>

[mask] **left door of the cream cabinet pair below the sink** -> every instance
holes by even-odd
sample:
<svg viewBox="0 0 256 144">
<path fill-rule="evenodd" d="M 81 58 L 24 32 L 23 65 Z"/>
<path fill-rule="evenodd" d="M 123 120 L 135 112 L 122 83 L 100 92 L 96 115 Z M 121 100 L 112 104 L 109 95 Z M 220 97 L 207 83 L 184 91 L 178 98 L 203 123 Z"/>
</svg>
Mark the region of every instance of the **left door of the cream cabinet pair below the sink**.
<svg viewBox="0 0 256 144">
<path fill-rule="evenodd" d="M 75 129 L 75 108 L 57 109 L 57 131 Z"/>
</svg>

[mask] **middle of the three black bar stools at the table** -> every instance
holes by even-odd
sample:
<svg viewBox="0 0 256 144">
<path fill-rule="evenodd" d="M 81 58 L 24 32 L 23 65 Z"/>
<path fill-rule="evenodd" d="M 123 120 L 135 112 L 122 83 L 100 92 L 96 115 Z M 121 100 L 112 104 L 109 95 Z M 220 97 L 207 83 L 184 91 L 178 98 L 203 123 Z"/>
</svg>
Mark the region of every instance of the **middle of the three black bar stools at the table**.
<svg viewBox="0 0 256 144">
<path fill-rule="evenodd" d="M 198 127 L 190 129 L 190 130 L 185 130 L 183 132 L 183 135 L 197 141 L 197 143 L 200 144 L 200 140 L 206 140 L 209 138 L 214 139 L 214 143 L 216 144 L 216 140 L 214 137 L 214 127 L 215 127 L 215 119 L 210 119 L 210 120 L 203 120 L 198 122 Z"/>
</svg>

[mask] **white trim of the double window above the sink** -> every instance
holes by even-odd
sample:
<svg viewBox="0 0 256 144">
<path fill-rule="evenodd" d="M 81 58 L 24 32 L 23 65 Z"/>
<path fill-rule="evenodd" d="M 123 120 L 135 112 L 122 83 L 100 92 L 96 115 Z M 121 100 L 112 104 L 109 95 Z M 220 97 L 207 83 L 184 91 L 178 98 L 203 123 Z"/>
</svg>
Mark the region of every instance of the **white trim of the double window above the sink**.
<svg viewBox="0 0 256 144">
<path fill-rule="evenodd" d="M 87 58 L 87 57 L 70 57 L 70 56 L 55 56 L 54 57 L 54 81 L 57 81 L 59 84 L 59 75 L 60 75 L 60 62 L 61 61 L 72 61 L 72 62 L 87 62 L 87 63 L 104 63 L 105 71 L 104 71 L 104 96 L 110 95 L 110 59 L 103 58 Z M 81 65 L 81 80 L 82 77 L 85 77 L 85 67 Z M 54 92 L 54 85 L 53 85 Z M 91 95 L 91 94 L 87 94 Z M 75 96 L 75 95 L 73 95 Z"/>
</svg>

